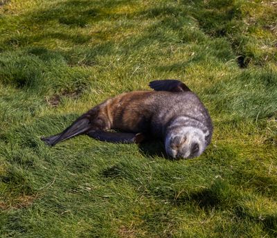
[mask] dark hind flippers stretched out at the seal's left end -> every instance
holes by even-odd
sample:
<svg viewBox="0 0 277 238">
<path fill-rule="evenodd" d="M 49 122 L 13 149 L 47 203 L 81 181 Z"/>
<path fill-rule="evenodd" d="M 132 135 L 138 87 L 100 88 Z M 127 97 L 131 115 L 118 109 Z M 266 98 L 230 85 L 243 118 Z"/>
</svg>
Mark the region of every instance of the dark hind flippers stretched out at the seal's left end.
<svg viewBox="0 0 277 238">
<path fill-rule="evenodd" d="M 42 138 L 46 145 L 54 146 L 62 140 L 67 140 L 73 136 L 78 136 L 80 134 L 84 134 L 89 129 L 91 129 L 91 124 L 88 118 L 80 118 L 73 122 L 70 127 L 67 127 L 62 133 L 57 134 L 55 136 L 49 136 L 46 138 Z"/>
</svg>

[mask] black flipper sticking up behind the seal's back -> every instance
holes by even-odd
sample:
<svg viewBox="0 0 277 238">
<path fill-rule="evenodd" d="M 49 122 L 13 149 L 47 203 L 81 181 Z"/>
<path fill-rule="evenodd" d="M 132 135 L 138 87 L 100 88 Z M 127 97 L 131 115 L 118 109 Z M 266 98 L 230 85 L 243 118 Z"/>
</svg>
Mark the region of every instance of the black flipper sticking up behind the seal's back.
<svg viewBox="0 0 277 238">
<path fill-rule="evenodd" d="M 154 80 L 149 83 L 155 91 L 186 92 L 190 91 L 188 86 L 179 80 Z"/>
</svg>

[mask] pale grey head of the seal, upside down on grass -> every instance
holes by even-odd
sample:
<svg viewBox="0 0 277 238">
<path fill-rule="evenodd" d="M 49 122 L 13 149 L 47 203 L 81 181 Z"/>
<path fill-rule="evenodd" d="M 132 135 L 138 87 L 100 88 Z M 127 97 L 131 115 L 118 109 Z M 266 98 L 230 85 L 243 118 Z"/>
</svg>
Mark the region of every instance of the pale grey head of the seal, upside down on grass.
<svg viewBox="0 0 277 238">
<path fill-rule="evenodd" d="M 204 152 L 210 140 L 208 131 L 197 127 L 175 127 L 166 135 L 166 153 L 172 158 L 193 158 Z"/>
</svg>

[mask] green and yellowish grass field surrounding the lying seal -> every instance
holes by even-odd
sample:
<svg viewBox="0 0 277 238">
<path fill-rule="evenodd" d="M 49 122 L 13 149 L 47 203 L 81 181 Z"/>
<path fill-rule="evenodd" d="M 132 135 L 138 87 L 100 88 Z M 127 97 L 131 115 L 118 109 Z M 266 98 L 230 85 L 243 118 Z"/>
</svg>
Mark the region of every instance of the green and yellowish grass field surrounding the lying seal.
<svg viewBox="0 0 277 238">
<path fill-rule="evenodd" d="M 0 0 L 0 236 L 277 237 L 276 16 L 267 0 Z M 199 158 L 40 140 L 166 78 L 211 113 Z"/>
</svg>

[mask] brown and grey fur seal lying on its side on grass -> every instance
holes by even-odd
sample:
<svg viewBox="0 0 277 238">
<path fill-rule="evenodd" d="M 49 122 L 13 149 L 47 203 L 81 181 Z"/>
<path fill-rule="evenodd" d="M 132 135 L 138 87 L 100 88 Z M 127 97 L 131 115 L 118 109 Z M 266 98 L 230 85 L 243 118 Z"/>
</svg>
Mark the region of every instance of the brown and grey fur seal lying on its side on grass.
<svg viewBox="0 0 277 238">
<path fill-rule="evenodd" d="M 141 143 L 152 136 L 163 139 L 166 153 L 172 158 L 202 154 L 211 143 L 213 124 L 197 95 L 179 80 L 155 80 L 149 86 L 154 91 L 132 91 L 107 99 L 60 134 L 42 140 L 53 146 L 87 134 L 112 143 Z"/>
</svg>

